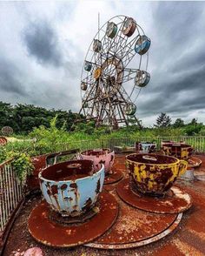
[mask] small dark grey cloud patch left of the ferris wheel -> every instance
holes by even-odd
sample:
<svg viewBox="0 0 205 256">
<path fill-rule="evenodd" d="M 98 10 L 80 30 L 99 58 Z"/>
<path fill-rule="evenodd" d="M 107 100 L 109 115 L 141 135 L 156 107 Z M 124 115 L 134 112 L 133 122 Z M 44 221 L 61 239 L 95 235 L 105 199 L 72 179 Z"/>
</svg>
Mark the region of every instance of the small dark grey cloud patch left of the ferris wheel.
<svg viewBox="0 0 205 256">
<path fill-rule="evenodd" d="M 39 63 L 56 66 L 63 63 L 56 31 L 48 22 L 30 23 L 23 31 L 23 40 L 30 55 Z"/>
</svg>

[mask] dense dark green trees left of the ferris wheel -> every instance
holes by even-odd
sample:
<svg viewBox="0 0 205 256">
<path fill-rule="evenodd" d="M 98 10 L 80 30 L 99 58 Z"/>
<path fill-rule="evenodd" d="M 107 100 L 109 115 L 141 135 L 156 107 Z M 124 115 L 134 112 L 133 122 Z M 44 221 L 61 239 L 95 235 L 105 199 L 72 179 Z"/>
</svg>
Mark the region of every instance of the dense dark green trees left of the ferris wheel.
<svg viewBox="0 0 205 256">
<path fill-rule="evenodd" d="M 50 120 L 57 115 L 56 127 L 63 125 L 69 131 L 79 115 L 72 111 L 47 110 L 33 104 L 11 105 L 0 101 L 0 130 L 3 126 L 12 127 L 17 134 L 28 134 L 34 127 L 50 127 Z M 81 116 L 83 118 L 83 116 Z"/>
</svg>

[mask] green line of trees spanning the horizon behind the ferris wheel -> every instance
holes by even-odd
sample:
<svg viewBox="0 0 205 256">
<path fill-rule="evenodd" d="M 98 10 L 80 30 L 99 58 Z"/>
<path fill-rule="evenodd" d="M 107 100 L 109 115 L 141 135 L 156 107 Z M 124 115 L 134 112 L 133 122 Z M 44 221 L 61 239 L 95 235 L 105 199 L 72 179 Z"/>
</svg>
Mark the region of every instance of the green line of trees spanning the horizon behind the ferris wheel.
<svg viewBox="0 0 205 256">
<path fill-rule="evenodd" d="M 113 133 L 110 127 L 95 128 L 95 122 L 90 121 L 86 123 L 83 119 L 83 115 L 79 116 L 77 113 L 72 111 L 62 110 L 47 110 L 43 107 L 37 107 L 33 104 L 16 104 L 11 105 L 0 101 L 0 131 L 3 126 L 10 126 L 16 134 L 27 135 L 30 131 L 40 125 L 45 128 L 50 127 L 50 121 L 56 118 L 56 128 L 64 127 L 65 131 L 70 131 L 71 126 L 75 123 L 76 119 L 82 120 L 77 122 L 76 125 L 72 126 L 71 131 L 82 132 L 83 134 L 101 134 Z M 139 120 L 140 121 L 140 120 Z M 141 122 L 141 121 L 140 121 Z M 143 127 L 143 125 L 142 125 Z M 152 127 L 139 127 L 137 124 L 132 124 L 129 127 L 121 127 L 117 131 L 117 135 L 124 136 L 124 132 L 142 132 L 144 135 L 153 134 L 158 135 L 205 135 L 205 125 L 198 123 L 196 118 L 190 120 L 188 124 L 185 124 L 182 118 L 175 119 L 175 122 L 166 113 L 161 113 L 156 118 L 155 124 Z M 114 134 L 115 135 L 115 134 Z"/>
</svg>

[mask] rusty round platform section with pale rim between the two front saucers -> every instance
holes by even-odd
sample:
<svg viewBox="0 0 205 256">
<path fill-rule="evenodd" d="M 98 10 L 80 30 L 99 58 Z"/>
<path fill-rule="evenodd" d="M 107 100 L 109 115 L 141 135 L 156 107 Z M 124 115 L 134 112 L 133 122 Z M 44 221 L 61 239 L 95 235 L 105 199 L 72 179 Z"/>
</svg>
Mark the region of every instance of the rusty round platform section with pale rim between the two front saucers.
<svg viewBox="0 0 205 256">
<path fill-rule="evenodd" d="M 116 192 L 112 194 L 116 196 Z M 121 199 L 118 199 L 118 203 L 120 212 L 114 226 L 86 246 L 119 250 L 147 245 L 168 235 L 182 219 L 182 214 L 144 212 L 127 205 Z"/>
</svg>

